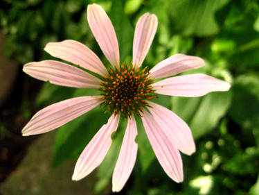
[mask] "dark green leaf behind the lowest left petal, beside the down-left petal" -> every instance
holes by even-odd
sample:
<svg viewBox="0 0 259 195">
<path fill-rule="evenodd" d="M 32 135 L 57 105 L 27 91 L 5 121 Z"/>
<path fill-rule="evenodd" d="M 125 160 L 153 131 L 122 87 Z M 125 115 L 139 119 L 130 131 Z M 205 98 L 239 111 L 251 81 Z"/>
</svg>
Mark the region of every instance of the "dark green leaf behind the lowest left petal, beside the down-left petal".
<svg viewBox="0 0 259 195">
<path fill-rule="evenodd" d="M 97 90 L 93 89 L 78 89 L 75 90 L 73 97 L 96 93 L 98 93 Z M 109 115 L 105 115 L 102 108 L 97 107 L 60 127 L 55 139 L 53 164 L 58 166 L 68 158 L 78 158 L 91 138 L 103 124 L 107 123 L 108 117 Z"/>
</svg>

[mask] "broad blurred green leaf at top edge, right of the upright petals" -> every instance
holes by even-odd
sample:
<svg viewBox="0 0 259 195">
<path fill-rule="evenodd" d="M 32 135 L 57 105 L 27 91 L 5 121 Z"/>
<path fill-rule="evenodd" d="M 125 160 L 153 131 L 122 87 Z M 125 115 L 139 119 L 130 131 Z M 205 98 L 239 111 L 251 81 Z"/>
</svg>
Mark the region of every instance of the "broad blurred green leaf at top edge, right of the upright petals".
<svg viewBox="0 0 259 195">
<path fill-rule="evenodd" d="M 172 22 L 184 35 L 213 35 L 219 31 L 215 12 L 228 2 L 229 0 L 172 0 Z"/>
</svg>

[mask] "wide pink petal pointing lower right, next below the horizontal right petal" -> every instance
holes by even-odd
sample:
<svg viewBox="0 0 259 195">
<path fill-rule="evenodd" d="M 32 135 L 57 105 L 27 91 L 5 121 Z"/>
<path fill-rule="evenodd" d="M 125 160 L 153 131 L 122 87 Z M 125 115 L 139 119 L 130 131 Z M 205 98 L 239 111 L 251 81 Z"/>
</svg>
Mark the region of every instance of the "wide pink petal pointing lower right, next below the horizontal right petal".
<svg viewBox="0 0 259 195">
<path fill-rule="evenodd" d="M 150 110 L 154 121 L 161 126 L 161 130 L 169 137 L 177 149 L 187 155 L 194 153 L 195 142 L 193 140 L 192 132 L 186 122 L 175 115 L 171 110 L 168 110 L 157 103 L 148 101 L 148 104 L 152 107 L 148 109 Z"/>
</svg>

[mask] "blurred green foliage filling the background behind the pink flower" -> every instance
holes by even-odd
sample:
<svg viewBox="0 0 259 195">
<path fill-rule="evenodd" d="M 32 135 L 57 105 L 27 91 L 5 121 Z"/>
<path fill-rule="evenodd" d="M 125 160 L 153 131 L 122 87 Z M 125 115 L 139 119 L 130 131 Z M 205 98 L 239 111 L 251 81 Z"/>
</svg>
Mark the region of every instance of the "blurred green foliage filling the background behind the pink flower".
<svg viewBox="0 0 259 195">
<path fill-rule="evenodd" d="M 159 96 L 159 103 L 183 118 L 196 139 L 197 152 L 184 159 L 184 183 L 163 172 L 138 120 L 139 153 L 122 194 L 259 194 L 259 3 L 256 0 L 3 0 L 1 28 L 6 55 L 21 64 L 50 59 L 47 42 L 78 40 L 100 52 L 87 24 L 87 3 L 99 3 L 116 29 L 121 61 L 130 61 L 134 26 L 144 12 L 159 18 L 156 37 L 144 66 L 175 53 L 200 56 L 204 72 L 231 83 L 230 92 L 199 98 Z M 187 73 L 187 74 L 188 74 Z M 44 84 L 37 99 L 42 108 L 94 90 Z M 96 108 L 57 130 L 54 164 L 78 158 L 84 146 L 109 115 Z M 96 192 L 111 183 L 125 121 L 98 169 Z M 107 168 L 108 167 L 108 168 Z"/>
</svg>

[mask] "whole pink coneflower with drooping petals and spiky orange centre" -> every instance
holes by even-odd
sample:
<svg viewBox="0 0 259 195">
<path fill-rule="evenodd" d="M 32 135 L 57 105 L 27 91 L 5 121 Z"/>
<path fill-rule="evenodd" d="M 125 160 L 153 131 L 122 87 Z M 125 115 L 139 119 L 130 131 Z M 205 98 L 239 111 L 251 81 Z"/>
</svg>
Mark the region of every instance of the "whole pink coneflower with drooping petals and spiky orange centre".
<svg viewBox="0 0 259 195">
<path fill-rule="evenodd" d="M 171 110 L 150 100 L 156 94 L 170 96 L 203 96 L 208 92 L 227 91 L 229 83 L 206 74 L 174 76 L 204 65 L 201 58 L 176 54 L 159 62 L 150 71 L 142 67 L 143 60 L 157 31 L 156 15 L 145 13 L 136 24 L 133 59 L 120 63 L 118 41 L 105 10 L 96 4 L 87 8 L 91 31 L 110 65 L 107 68 L 87 46 L 73 40 L 51 42 L 45 47 L 51 56 L 60 58 L 99 75 L 99 78 L 77 67 L 55 60 L 29 62 L 24 72 L 39 80 L 68 87 L 97 88 L 99 96 L 81 96 L 54 103 L 37 112 L 22 130 L 23 135 L 46 133 L 83 115 L 98 105 L 111 112 L 107 124 L 96 133 L 78 158 L 73 180 L 87 176 L 105 158 L 111 146 L 111 134 L 120 117 L 127 118 L 123 144 L 112 176 L 112 190 L 120 191 L 134 167 L 137 154 L 135 117 L 141 117 L 152 149 L 167 175 L 177 183 L 184 179 L 179 151 L 195 152 L 195 143 L 188 125 Z M 166 78 L 170 77 L 170 78 Z M 166 78 L 157 81 L 159 78 Z"/>
</svg>

